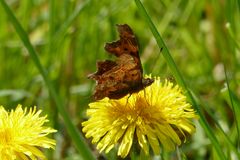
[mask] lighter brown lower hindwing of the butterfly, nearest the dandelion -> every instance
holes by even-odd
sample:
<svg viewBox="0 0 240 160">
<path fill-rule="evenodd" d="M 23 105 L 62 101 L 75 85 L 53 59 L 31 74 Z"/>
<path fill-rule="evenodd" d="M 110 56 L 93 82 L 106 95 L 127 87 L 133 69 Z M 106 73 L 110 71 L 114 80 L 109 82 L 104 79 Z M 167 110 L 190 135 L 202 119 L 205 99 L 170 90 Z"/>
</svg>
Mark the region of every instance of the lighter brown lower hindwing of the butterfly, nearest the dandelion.
<svg viewBox="0 0 240 160">
<path fill-rule="evenodd" d="M 139 70 L 134 69 L 136 64 L 130 55 L 121 55 L 117 58 L 116 63 L 116 66 L 104 74 L 90 77 L 94 77 L 97 82 L 94 91 L 95 100 L 104 97 L 121 98 L 129 92 L 130 86 L 137 85 L 139 82 L 141 73 Z"/>
</svg>

